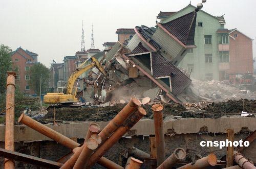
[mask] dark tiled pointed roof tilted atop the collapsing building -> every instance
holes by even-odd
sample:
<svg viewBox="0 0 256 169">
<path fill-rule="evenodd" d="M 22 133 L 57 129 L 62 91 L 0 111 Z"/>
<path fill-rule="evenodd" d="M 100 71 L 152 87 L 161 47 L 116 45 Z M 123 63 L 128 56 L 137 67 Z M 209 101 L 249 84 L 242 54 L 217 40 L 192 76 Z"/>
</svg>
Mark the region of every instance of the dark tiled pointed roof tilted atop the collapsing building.
<svg viewBox="0 0 256 169">
<path fill-rule="evenodd" d="M 185 45 L 194 45 L 197 13 L 195 11 L 166 23 L 160 23 L 164 29 Z"/>
</svg>

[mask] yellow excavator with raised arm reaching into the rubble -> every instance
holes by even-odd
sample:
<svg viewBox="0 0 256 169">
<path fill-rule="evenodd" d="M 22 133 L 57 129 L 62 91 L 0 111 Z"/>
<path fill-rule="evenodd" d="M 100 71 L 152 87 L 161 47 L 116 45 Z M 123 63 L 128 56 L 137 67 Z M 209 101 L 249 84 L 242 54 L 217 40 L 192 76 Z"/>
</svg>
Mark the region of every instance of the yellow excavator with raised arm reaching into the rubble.
<svg viewBox="0 0 256 169">
<path fill-rule="evenodd" d="M 84 66 L 89 59 L 91 59 L 92 62 Z M 73 91 L 74 83 L 82 73 L 88 71 L 89 69 L 96 67 L 104 76 L 106 76 L 104 67 L 99 63 L 99 61 L 94 57 L 91 57 L 89 59 L 84 61 L 69 77 L 67 93 L 47 93 L 44 96 L 44 103 L 57 104 L 49 106 L 48 109 L 50 107 L 76 107 L 75 105 L 73 105 L 73 103 L 78 101 L 78 99 L 76 98 L 77 87 L 75 88 L 75 91 Z"/>
</svg>

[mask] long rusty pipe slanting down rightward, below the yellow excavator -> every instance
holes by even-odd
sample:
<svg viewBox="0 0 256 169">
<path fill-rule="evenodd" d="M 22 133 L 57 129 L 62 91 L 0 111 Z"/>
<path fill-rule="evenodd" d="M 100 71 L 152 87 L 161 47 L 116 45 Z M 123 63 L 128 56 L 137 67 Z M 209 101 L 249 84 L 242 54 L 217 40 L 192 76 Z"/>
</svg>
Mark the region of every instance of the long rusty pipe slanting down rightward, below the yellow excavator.
<svg viewBox="0 0 256 169">
<path fill-rule="evenodd" d="M 36 120 L 30 118 L 29 116 L 25 115 L 24 113 L 20 115 L 18 118 L 19 123 L 23 123 L 24 125 L 38 131 L 39 133 L 57 141 L 60 143 L 62 146 L 65 146 L 71 150 L 74 148 L 78 147 L 80 144 L 77 143 L 76 141 L 56 132 L 55 130 L 40 124 Z"/>
</svg>

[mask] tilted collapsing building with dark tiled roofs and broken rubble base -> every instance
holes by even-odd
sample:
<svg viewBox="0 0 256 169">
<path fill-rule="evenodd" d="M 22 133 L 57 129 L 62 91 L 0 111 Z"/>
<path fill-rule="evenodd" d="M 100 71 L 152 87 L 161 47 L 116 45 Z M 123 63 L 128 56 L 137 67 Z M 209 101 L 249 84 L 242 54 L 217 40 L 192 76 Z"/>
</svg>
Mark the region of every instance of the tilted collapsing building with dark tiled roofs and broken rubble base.
<svg viewBox="0 0 256 169">
<path fill-rule="evenodd" d="M 196 17 L 197 13 L 194 11 L 164 24 L 158 23 L 156 28 L 142 25 L 134 29 L 135 35 L 126 45 L 116 42 L 100 60 L 109 74 L 108 78 L 100 78 L 100 75 L 97 75 L 92 80 L 93 83 L 85 81 L 88 86 L 97 83 L 97 93 L 94 93 L 94 96 L 111 99 L 108 94 L 113 95 L 115 89 L 119 95 L 126 95 L 127 98 L 136 95 L 138 98 L 149 96 L 154 100 L 161 90 L 162 99 L 180 102 L 178 96 L 188 88 L 191 80 L 189 73 L 177 65 L 188 49 L 196 47 Z M 92 71 L 95 74 L 95 70 Z M 129 95 L 129 92 L 125 91 L 125 85 L 129 84 L 134 85 L 134 88 L 139 87 L 140 90 L 136 93 L 130 92 Z M 152 88 L 155 93 L 148 92 Z M 84 92 L 87 92 L 87 88 Z M 85 98 L 86 101 L 88 99 Z M 117 99 L 120 100 L 120 97 Z"/>
</svg>

